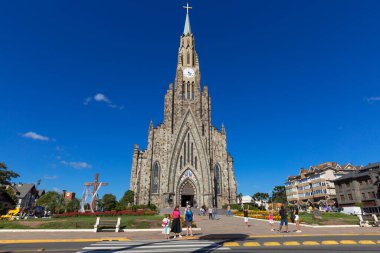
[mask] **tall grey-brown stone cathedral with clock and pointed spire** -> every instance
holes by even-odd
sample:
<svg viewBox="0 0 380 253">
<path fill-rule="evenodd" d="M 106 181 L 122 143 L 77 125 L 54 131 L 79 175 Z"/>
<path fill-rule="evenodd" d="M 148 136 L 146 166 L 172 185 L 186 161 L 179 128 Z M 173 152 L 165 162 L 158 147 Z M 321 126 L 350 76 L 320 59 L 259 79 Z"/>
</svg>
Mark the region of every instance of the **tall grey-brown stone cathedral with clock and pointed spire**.
<svg viewBox="0 0 380 253">
<path fill-rule="evenodd" d="M 134 145 L 130 190 L 135 204 L 158 207 L 236 203 L 233 159 L 226 130 L 211 125 L 208 87 L 201 90 L 201 72 L 189 9 L 180 37 L 174 85 L 165 95 L 164 122 L 150 122 L 148 146 Z"/>
</svg>

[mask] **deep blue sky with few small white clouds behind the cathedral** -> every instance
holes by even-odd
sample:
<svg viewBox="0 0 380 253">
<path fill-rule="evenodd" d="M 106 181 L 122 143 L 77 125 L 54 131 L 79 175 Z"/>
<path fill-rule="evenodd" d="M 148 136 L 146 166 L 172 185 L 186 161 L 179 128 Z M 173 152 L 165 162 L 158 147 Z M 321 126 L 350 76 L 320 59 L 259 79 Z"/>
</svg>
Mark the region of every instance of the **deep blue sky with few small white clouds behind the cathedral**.
<svg viewBox="0 0 380 253">
<path fill-rule="evenodd" d="M 163 119 L 185 1 L 0 3 L 0 160 L 16 182 L 120 197 Z M 379 1 L 190 1 L 213 124 L 238 191 L 301 167 L 380 161 Z M 102 94 L 98 95 L 97 94 Z"/>
</svg>

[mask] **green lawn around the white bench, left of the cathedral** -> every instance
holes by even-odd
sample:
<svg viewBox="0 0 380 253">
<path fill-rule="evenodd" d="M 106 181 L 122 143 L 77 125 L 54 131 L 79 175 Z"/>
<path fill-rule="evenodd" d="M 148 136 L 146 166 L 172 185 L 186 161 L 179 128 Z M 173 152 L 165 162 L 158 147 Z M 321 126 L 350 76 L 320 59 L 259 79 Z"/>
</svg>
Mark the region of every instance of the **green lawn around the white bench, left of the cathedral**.
<svg viewBox="0 0 380 253">
<path fill-rule="evenodd" d="M 103 219 L 116 220 L 116 217 Z M 121 216 L 122 228 L 161 228 L 163 216 Z M 0 229 L 69 229 L 94 228 L 96 217 L 69 217 L 51 219 L 28 219 L 21 221 L 0 221 Z"/>
</svg>

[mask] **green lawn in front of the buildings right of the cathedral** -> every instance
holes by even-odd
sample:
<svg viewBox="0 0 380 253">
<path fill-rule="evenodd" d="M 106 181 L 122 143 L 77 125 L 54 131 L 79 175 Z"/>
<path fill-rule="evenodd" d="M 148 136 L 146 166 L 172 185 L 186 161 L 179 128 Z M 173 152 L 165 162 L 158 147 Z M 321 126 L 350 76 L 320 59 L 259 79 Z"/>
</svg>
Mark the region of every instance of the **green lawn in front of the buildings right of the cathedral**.
<svg viewBox="0 0 380 253">
<path fill-rule="evenodd" d="M 321 213 L 322 220 L 313 221 L 311 214 L 301 213 L 301 222 L 306 224 L 318 225 L 359 225 L 359 219 L 356 215 L 347 215 L 342 213 Z"/>
</svg>

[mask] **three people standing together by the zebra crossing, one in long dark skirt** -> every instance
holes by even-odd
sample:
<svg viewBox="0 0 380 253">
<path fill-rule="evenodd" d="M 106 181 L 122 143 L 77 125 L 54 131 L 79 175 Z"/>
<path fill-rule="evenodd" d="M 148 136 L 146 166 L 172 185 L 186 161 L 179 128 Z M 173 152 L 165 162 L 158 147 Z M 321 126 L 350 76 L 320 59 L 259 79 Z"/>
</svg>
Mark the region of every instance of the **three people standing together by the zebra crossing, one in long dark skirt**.
<svg viewBox="0 0 380 253">
<path fill-rule="evenodd" d="M 193 236 L 192 223 L 194 215 L 191 211 L 190 205 L 186 207 L 183 215 L 186 223 L 186 236 Z M 173 239 L 182 237 L 181 214 L 178 205 L 174 208 L 171 215 L 166 214 L 165 218 L 162 220 L 162 233 L 167 240 L 170 238 L 170 232 L 174 233 Z"/>
</svg>

